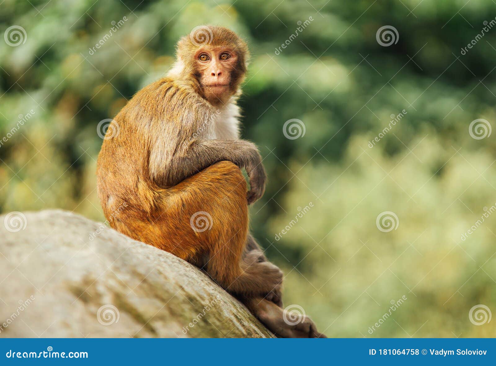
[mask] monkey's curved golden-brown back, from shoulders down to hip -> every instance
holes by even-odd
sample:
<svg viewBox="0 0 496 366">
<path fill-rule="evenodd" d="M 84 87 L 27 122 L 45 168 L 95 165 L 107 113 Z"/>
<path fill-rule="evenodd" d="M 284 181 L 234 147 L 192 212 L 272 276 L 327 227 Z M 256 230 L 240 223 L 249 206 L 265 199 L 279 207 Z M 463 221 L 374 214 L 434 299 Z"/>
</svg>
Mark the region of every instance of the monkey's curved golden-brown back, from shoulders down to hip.
<svg viewBox="0 0 496 366">
<path fill-rule="evenodd" d="M 124 202 L 148 212 L 152 208 L 150 190 L 160 187 L 151 178 L 150 154 L 158 135 L 167 134 L 157 125 L 170 115 L 170 105 L 164 103 L 171 99 L 168 93 L 178 94 L 168 78 L 144 87 L 110 124 L 97 161 L 97 188 L 106 216 L 108 209 Z"/>
</svg>

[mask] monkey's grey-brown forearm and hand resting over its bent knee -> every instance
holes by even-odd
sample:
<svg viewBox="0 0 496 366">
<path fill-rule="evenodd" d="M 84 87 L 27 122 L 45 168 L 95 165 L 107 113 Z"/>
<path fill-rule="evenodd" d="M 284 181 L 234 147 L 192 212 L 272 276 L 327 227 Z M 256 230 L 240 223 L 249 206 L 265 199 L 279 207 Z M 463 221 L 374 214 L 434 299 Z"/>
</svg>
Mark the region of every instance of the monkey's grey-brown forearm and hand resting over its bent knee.
<svg viewBox="0 0 496 366">
<path fill-rule="evenodd" d="M 254 144 L 245 140 L 192 140 L 175 154 L 166 180 L 175 185 L 200 170 L 223 160 L 229 160 L 245 168 L 250 184 L 248 205 L 262 197 L 265 191 L 265 169 L 262 158 Z M 174 173 L 174 175 L 170 174 Z"/>
</svg>

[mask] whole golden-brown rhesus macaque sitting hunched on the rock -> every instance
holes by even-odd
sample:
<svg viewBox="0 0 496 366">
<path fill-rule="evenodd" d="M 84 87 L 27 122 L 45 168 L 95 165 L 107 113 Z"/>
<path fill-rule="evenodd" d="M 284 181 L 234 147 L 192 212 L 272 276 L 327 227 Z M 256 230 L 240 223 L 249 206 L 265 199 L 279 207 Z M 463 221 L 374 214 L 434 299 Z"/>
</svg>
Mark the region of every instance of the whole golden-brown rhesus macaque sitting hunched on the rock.
<svg viewBox="0 0 496 366">
<path fill-rule="evenodd" d="M 247 46 L 229 29 L 198 29 L 179 41 L 168 75 L 110 124 L 97 165 L 104 214 L 114 229 L 203 268 L 277 336 L 324 337 L 310 318 L 284 321 L 283 273 L 248 233 L 265 171 L 255 145 L 239 139 Z"/>
</svg>

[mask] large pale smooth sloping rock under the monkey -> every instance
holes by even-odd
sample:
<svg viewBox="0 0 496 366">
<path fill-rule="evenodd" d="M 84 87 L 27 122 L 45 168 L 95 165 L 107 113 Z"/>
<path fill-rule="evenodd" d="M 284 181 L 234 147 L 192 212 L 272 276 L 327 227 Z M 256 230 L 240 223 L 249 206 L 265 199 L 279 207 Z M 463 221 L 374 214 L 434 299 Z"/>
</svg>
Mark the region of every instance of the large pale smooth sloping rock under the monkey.
<svg viewBox="0 0 496 366">
<path fill-rule="evenodd" d="M 204 273 L 61 210 L 0 218 L 0 337 L 271 337 Z"/>
</svg>

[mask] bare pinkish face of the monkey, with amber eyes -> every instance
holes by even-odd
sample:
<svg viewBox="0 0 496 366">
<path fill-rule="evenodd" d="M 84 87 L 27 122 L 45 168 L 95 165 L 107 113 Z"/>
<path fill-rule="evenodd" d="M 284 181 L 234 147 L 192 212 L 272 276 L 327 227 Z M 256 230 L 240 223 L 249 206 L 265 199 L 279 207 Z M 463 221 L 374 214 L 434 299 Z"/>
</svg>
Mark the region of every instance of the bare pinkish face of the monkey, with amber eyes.
<svg viewBox="0 0 496 366">
<path fill-rule="evenodd" d="M 201 48 L 195 60 L 205 98 L 214 105 L 225 103 L 233 95 L 230 83 L 238 62 L 236 52 L 229 48 Z"/>
</svg>

